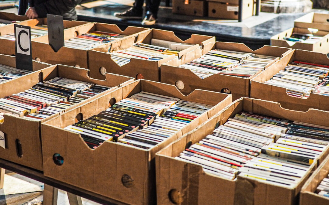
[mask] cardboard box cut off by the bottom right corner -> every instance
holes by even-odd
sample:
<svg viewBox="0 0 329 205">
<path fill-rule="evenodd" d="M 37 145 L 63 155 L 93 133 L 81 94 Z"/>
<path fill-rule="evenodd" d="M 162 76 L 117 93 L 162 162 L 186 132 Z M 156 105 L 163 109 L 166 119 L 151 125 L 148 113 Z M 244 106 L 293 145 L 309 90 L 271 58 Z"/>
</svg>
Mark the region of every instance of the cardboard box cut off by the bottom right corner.
<svg viewBox="0 0 329 205">
<path fill-rule="evenodd" d="M 329 204 L 329 198 L 315 193 L 316 187 L 329 174 L 329 156 L 313 172 L 300 191 L 299 205 Z"/>
</svg>

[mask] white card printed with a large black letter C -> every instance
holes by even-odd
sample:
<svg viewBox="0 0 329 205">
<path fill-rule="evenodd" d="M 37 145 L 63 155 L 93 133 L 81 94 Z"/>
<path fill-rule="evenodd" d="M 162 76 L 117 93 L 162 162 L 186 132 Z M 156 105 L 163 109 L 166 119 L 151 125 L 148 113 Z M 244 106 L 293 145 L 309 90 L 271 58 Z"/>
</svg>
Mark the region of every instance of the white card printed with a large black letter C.
<svg viewBox="0 0 329 205">
<path fill-rule="evenodd" d="M 16 27 L 17 53 L 31 55 L 30 30 Z"/>
</svg>

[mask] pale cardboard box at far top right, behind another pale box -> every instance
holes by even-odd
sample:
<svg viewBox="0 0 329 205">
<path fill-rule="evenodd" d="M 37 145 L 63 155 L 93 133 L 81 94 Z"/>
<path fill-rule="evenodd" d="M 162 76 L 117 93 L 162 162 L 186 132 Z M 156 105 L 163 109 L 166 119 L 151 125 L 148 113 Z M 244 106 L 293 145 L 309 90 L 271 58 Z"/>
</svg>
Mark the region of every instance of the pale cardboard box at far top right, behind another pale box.
<svg viewBox="0 0 329 205">
<path fill-rule="evenodd" d="M 294 21 L 295 27 L 329 31 L 329 14 L 310 12 Z"/>
</svg>

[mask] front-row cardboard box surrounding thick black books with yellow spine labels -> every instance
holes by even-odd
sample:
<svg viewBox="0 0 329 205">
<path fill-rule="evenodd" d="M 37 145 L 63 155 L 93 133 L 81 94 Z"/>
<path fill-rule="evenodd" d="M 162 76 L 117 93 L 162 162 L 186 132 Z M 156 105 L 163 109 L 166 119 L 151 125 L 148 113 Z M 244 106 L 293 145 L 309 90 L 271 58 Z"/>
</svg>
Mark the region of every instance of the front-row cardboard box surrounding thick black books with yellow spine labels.
<svg viewBox="0 0 329 205">
<path fill-rule="evenodd" d="M 117 102 L 141 91 L 206 103 L 214 107 L 148 150 L 110 141 L 105 141 L 92 150 L 80 134 L 63 129 L 74 124 L 76 116 L 82 114 L 83 119 L 86 119 L 106 110 L 109 101 Z M 155 153 L 208 120 L 230 104 L 231 100 L 231 95 L 203 90 L 195 90 L 185 96 L 172 85 L 137 80 L 85 107 L 66 112 L 41 125 L 44 175 L 124 203 L 155 204 Z M 54 163 L 54 154 L 63 157 L 63 165 Z"/>
</svg>

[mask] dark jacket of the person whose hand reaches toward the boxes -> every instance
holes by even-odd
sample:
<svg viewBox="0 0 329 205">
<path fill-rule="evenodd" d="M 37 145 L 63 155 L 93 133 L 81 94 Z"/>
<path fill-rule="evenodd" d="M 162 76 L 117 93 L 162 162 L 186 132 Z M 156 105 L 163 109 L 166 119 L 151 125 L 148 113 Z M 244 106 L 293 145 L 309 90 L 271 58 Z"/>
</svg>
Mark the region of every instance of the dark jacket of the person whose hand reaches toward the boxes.
<svg viewBox="0 0 329 205">
<path fill-rule="evenodd" d="M 22 0 L 20 0 L 20 2 L 21 1 Z M 63 16 L 64 20 L 77 20 L 77 12 L 74 8 L 81 1 L 82 0 L 30 0 L 30 5 L 36 9 L 39 18 L 47 17 L 47 13 L 49 13 L 54 15 L 61 15 Z"/>
</svg>

